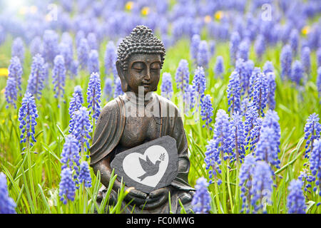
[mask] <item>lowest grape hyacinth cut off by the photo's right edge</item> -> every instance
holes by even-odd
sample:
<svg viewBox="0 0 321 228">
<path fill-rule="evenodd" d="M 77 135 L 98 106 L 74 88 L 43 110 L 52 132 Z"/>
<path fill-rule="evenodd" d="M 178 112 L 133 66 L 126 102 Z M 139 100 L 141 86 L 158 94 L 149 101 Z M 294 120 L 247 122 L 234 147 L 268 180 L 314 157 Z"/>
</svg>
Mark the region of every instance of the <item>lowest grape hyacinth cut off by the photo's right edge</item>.
<svg viewBox="0 0 321 228">
<path fill-rule="evenodd" d="M 311 150 L 311 157 L 310 157 L 310 170 L 312 176 L 315 178 L 315 187 L 313 191 L 317 190 L 319 187 L 319 195 L 321 196 L 321 139 L 317 139 L 313 142 L 313 148 Z M 318 202 L 320 204 L 320 202 Z"/>
</svg>

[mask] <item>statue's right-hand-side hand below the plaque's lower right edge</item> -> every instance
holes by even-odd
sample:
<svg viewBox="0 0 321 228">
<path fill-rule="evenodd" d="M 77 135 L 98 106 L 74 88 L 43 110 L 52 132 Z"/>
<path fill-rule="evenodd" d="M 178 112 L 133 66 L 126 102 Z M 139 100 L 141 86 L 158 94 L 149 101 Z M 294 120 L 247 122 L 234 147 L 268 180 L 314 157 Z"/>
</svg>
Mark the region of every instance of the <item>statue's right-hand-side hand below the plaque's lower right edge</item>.
<svg viewBox="0 0 321 228">
<path fill-rule="evenodd" d="M 154 190 L 149 194 L 149 198 L 145 205 L 141 205 L 142 209 L 154 209 L 161 206 L 164 202 L 168 200 L 168 192 L 170 192 L 170 187 L 162 187 L 158 190 Z"/>
</svg>

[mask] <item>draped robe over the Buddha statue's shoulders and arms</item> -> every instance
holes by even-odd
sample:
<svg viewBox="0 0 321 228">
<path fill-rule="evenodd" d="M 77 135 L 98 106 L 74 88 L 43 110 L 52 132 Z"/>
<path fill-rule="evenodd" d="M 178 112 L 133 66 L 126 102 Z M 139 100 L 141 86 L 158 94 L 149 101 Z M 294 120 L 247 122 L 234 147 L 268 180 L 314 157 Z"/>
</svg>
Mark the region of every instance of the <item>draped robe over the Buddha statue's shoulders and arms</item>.
<svg viewBox="0 0 321 228">
<path fill-rule="evenodd" d="M 159 101 L 161 113 L 161 117 L 155 118 L 156 122 L 160 125 L 156 129 L 159 130 L 158 135 L 159 137 L 169 135 L 175 138 L 178 150 L 178 175 L 170 185 L 177 190 L 176 192 L 194 191 L 193 187 L 190 187 L 188 184 L 190 161 L 188 159 L 188 143 L 183 128 L 183 120 L 179 116 L 178 108 L 170 100 L 156 93 L 154 95 Z M 112 152 L 114 153 L 117 149 L 126 124 L 125 102 L 126 94 L 120 95 L 118 98 L 108 102 L 101 111 L 101 115 L 99 115 L 96 123 L 93 143 L 89 149 L 92 167 L 106 156 L 111 155 Z M 172 206 L 177 208 L 179 206 L 177 194 L 176 198 L 175 195 L 171 198 Z M 166 212 L 166 209 L 164 212 Z"/>
</svg>

